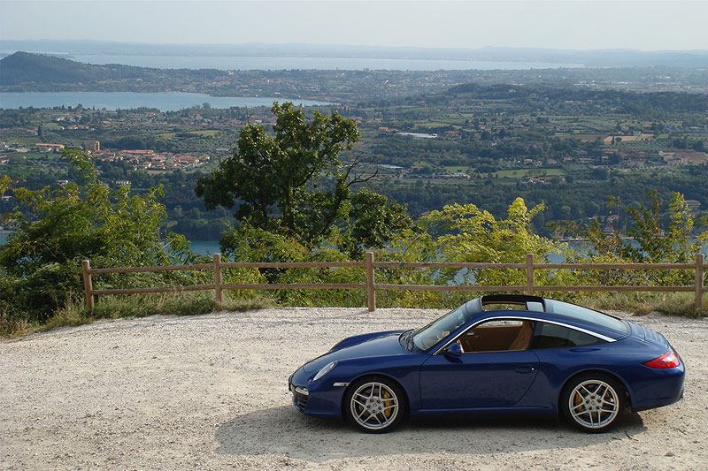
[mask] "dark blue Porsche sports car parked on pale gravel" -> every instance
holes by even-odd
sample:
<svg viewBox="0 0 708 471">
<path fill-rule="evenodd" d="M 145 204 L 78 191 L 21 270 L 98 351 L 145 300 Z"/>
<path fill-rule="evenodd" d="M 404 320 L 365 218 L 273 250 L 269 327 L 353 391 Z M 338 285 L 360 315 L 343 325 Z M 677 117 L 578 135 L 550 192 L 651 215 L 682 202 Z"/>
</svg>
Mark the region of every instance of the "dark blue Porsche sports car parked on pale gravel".
<svg viewBox="0 0 708 471">
<path fill-rule="evenodd" d="M 560 414 L 588 432 L 673 404 L 684 365 L 638 323 L 536 296 L 470 300 L 425 327 L 344 338 L 289 378 L 305 414 L 385 432 L 405 416 Z"/>
</svg>

